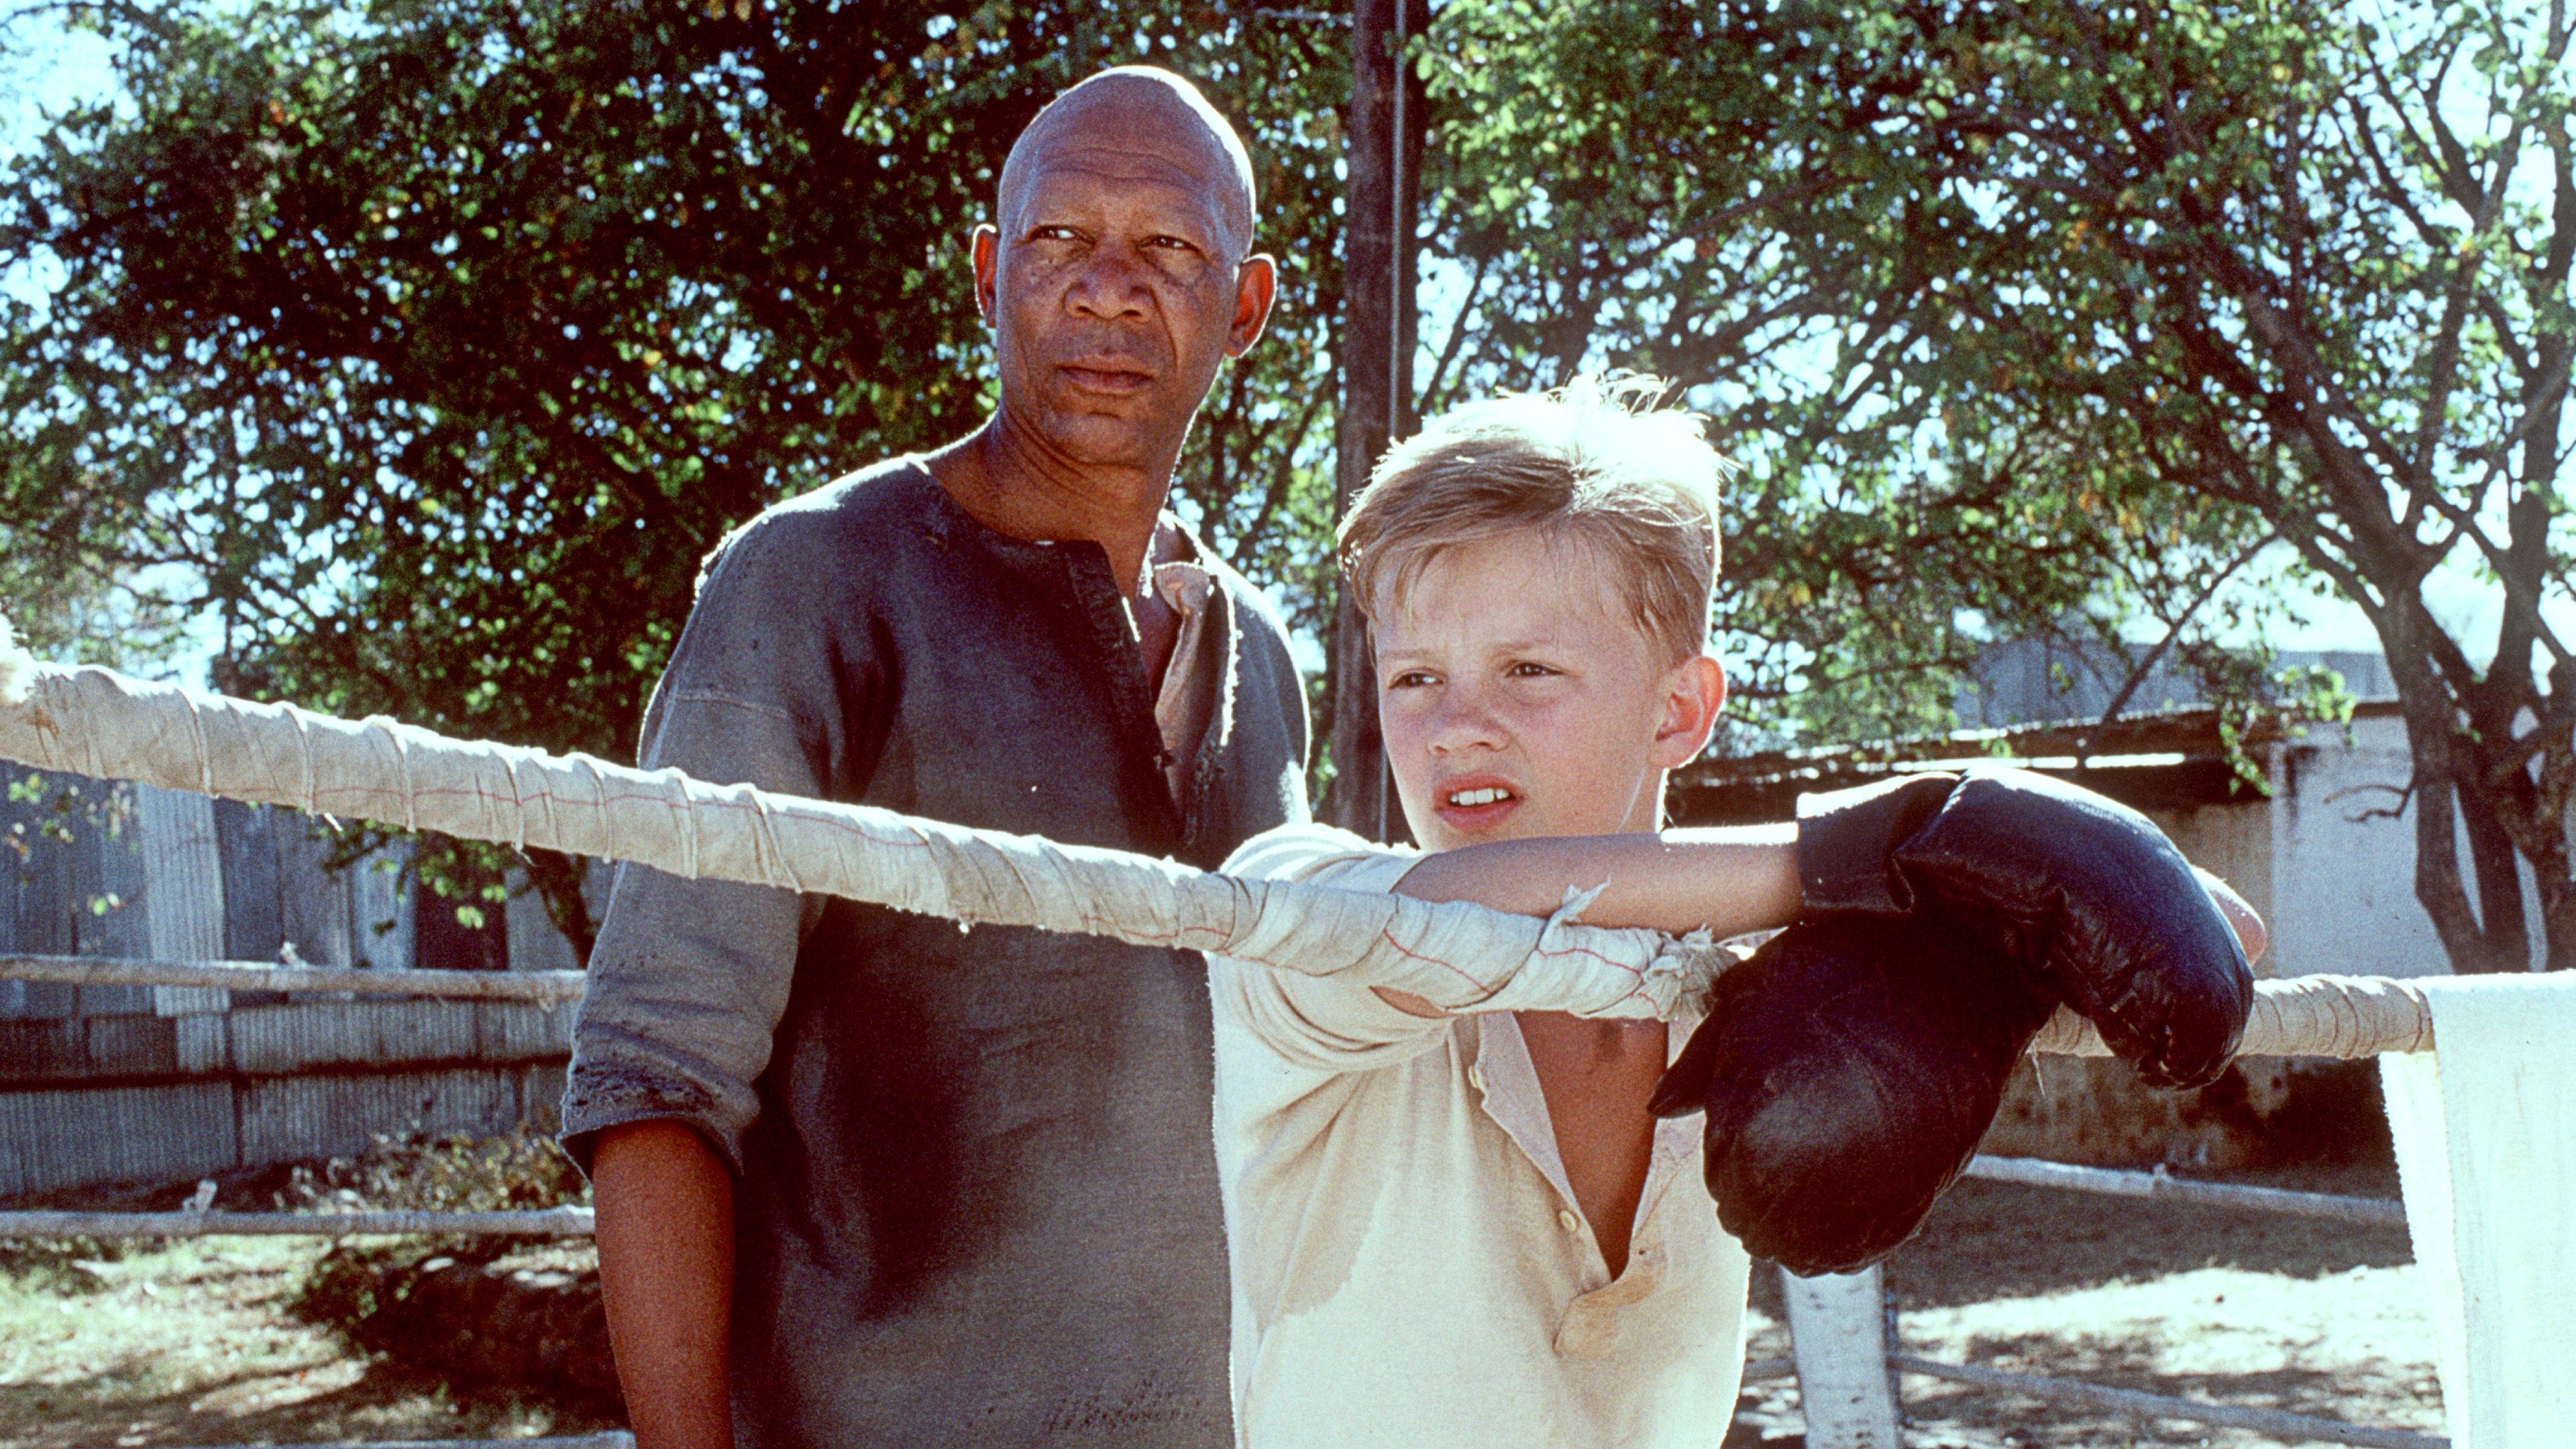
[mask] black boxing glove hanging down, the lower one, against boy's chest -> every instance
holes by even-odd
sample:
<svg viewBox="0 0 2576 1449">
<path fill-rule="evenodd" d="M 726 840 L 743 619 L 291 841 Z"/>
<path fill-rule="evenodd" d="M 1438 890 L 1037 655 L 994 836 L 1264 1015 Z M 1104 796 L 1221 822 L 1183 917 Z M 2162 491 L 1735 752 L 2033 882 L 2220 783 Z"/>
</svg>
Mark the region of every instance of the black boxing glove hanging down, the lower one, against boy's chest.
<svg viewBox="0 0 2576 1449">
<path fill-rule="evenodd" d="M 1922 1227 L 2056 1008 L 1945 920 L 1829 915 L 1718 977 L 1651 1109 L 1708 1111 L 1708 1194 L 1749 1253 L 1850 1274 Z"/>
</svg>

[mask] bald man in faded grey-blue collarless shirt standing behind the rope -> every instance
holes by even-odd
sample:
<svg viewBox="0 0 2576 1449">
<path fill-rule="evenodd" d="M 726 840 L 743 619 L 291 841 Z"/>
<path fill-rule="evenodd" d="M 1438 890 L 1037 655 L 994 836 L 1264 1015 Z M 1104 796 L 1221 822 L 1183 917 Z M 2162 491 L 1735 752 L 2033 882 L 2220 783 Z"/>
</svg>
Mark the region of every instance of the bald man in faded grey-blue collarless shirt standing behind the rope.
<svg viewBox="0 0 2576 1449">
<path fill-rule="evenodd" d="M 1164 511 L 1252 201 L 1180 77 L 1056 98 L 974 235 L 992 418 L 732 534 L 644 766 L 1203 866 L 1303 820 L 1280 621 Z M 623 866 L 564 1142 L 639 1446 L 1231 1444 L 1208 1101 L 1193 951 Z"/>
</svg>

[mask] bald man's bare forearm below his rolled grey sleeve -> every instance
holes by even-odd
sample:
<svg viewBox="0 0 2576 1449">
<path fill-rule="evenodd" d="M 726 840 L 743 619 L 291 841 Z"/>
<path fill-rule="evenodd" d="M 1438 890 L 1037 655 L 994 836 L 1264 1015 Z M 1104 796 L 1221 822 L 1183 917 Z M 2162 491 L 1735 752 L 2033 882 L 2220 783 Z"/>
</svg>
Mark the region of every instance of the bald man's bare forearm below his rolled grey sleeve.
<svg viewBox="0 0 2576 1449">
<path fill-rule="evenodd" d="M 696 1127 L 598 1134 L 600 1297 L 636 1449 L 732 1449 L 734 1178 Z"/>
</svg>

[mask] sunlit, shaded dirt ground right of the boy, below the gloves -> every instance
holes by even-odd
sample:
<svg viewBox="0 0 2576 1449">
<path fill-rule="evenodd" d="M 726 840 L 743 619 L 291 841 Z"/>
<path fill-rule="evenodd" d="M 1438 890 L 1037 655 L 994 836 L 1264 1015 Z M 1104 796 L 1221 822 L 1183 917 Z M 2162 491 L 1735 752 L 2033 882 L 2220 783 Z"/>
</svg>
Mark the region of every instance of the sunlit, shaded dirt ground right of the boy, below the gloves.
<svg viewBox="0 0 2576 1449">
<path fill-rule="evenodd" d="M 2388 1168 L 2244 1176 L 2396 1196 Z M 2432 1323 L 2401 1227 L 1968 1181 L 1888 1263 L 1906 1354 L 2025 1374 L 2442 1434 Z M 1752 1359 L 1788 1356 L 1757 1274 Z M 1734 1446 L 1798 1444 L 1798 1395 L 1749 1385 Z M 2272 1446 L 2182 1421 L 1904 1379 L 1909 1441 L 1978 1449 Z"/>
</svg>

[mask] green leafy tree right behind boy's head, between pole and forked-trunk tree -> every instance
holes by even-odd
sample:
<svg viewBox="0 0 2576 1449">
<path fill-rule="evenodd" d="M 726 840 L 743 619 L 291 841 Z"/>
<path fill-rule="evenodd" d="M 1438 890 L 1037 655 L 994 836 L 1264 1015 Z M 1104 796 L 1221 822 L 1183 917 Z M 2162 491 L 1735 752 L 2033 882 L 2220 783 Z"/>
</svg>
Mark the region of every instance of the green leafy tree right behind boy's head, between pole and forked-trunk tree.
<svg viewBox="0 0 2576 1449">
<path fill-rule="evenodd" d="M 1940 312 L 1996 242 L 1981 199 L 1883 142 L 1911 36 L 1891 5 L 1445 5 L 1422 64 L 1450 302 L 1422 410 L 1633 366 L 1713 413 L 1747 464 L 1718 593 L 1739 740 L 1953 727 L 1989 642 L 2053 632 L 2262 699 L 2226 639 L 2264 603 L 2223 583 L 2264 523 L 1950 384 Z M 2141 619 L 2161 642 L 2130 647 Z"/>
</svg>

